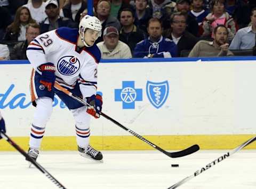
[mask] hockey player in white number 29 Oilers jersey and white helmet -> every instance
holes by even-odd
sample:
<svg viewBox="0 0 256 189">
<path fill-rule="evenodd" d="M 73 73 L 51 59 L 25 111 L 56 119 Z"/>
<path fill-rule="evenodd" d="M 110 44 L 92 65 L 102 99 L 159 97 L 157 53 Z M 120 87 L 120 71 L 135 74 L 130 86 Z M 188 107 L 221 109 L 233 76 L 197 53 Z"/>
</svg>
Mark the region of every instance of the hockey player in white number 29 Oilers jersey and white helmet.
<svg viewBox="0 0 256 189">
<path fill-rule="evenodd" d="M 102 153 L 90 146 L 90 118 L 100 117 L 102 98 L 96 95 L 97 66 L 101 58 L 94 44 L 101 35 L 101 23 L 95 16 L 86 15 L 79 29 L 59 28 L 36 37 L 27 48 L 33 66 L 30 79 L 31 101 L 36 106 L 30 131 L 28 155 L 35 160 L 52 114 L 54 94 L 65 102 L 75 119 L 78 151 L 83 157 L 102 160 Z M 87 108 L 53 87 L 62 87 L 82 97 L 94 108 Z"/>
</svg>

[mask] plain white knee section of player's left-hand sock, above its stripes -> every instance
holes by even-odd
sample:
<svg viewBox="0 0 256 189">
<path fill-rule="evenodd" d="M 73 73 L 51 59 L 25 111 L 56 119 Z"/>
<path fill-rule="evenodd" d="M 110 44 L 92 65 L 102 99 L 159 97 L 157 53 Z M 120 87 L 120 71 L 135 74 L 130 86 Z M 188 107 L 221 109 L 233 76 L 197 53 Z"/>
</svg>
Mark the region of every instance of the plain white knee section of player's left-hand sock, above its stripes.
<svg viewBox="0 0 256 189">
<path fill-rule="evenodd" d="M 52 114 L 52 99 L 48 97 L 38 98 L 36 104 L 33 125 L 45 127 Z"/>
</svg>

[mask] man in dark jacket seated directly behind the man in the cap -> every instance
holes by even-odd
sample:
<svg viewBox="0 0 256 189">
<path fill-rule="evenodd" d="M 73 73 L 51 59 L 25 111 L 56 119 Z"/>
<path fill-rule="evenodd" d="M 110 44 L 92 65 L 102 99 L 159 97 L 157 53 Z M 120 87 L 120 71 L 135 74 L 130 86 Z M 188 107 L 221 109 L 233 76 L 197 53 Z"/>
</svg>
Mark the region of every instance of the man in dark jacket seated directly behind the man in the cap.
<svg viewBox="0 0 256 189">
<path fill-rule="evenodd" d="M 111 3 L 108 0 L 100 0 L 97 5 L 97 17 L 101 22 L 102 25 L 102 31 L 105 30 L 105 28 L 109 26 L 115 27 L 118 31 L 121 29 L 121 25 L 119 21 L 110 15 L 110 7 Z M 101 36 L 97 39 L 96 43 L 103 41 L 103 36 L 101 33 Z"/>
</svg>

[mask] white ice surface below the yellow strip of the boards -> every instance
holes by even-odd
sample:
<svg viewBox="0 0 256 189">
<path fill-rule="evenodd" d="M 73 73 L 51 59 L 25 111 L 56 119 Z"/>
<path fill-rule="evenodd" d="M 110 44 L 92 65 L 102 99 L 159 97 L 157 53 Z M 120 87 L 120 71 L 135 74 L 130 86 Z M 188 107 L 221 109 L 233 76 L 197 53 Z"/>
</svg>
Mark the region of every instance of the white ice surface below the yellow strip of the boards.
<svg viewBox="0 0 256 189">
<path fill-rule="evenodd" d="M 166 189 L 230 150 L 200 150 L 182 158 L 159 151 L 102 151 L 103 163 L 76 151 L 43 151 L 38 158 L 66 188 Z M 179 164 L 178 168 L 171 164 Z M 19 152 L 0 152 L 0 188 L 58 188 Z M 178 188 L 255 189 L 256 151 L 242 150 Z"/>
</svg>

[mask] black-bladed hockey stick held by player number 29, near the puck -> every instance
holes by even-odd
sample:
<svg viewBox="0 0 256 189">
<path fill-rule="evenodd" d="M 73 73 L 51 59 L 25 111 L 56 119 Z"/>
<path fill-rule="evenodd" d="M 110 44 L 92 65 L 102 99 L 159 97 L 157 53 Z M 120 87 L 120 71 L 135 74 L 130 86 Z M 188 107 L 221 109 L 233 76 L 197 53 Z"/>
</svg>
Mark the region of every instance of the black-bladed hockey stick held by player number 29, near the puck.
<svg viewBox="0 0 256 189">
<path fill-rule="evenodd" d="M 73 95 L 73 93 L 71 93 L 70 91 L 68 91 L 67 89 L 61 87 L 57 82 L 54 83 L 54 87 L 59 89 L 60 91 L 66 93 L 66 95 L 70 96 L 71 98 L 81 102 L 81 104 L 85 105 L 85 106 L 91 106 L 90 104 L 88 104 L 86 101 L 84 101 L 83 99 Z M 183 157 L 183 156 L 187 156 L 191 153 L 194 153 L 196 151 L 199 150 L 199 146 L 197 144 L 192 145 L 191 147 L 178 151 L 178 152 L 167 152 L 165 150 L 163 150 L 162 148 L 158 147 L 156 144 L 148 141 L 147 139 L 143 138 L 143 136 L 135 133 L 134 131 L 130 130 L 129 128 L 125 127 L 124 125 L 122 125 L 121 123 L 115 121 L 115 119 L 109 117 L 108 115 L 104 114 L 102 111 L 100 113 L 101 116 L 107 118 L 109 121 L 113 122 L 114 124 L 116 124 L 117 126 L 123 128 L 123 130 L 131 133 L 132 135 L 136 136 L 138 139 L 146 142 L 147 144 L 149 144 L 151 147 L 163 152 L 166 156 L 169 156 L 171 158 L 179 158 L 179 157 Z"/>
</svg>

